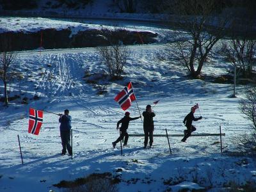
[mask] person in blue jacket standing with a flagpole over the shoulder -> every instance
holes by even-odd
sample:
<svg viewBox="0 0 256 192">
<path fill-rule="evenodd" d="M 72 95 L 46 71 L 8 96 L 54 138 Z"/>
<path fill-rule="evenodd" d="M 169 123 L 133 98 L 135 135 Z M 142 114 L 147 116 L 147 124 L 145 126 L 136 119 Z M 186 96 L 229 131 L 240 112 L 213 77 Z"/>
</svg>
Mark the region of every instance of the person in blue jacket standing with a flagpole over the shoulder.
<svg viewBox="0 0 256 192">
<path fill-rule="evenodd" d="M 65 155 L 68 150 L 68 154 L 72 155 L 72 148 L 70 146 L 70 130 L 71 130 L 71 116 L 68 115 L 68 109 L 65 109 L 64 115 L 59 114 L 59 122 L 60 122 L 60 137 L 61 137 L 61 145 L 62 152 L 61 155 Z"/>
</svg>

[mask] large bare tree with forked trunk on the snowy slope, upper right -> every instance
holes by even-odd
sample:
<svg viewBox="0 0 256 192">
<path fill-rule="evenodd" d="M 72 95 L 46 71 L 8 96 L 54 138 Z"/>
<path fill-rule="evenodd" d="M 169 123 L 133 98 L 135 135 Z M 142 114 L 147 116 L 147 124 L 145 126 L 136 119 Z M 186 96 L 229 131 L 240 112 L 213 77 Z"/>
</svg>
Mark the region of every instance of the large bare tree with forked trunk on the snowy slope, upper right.
<svg viewBox="0 0 256 192">
<path fill-rule="evenodd" d="M 175 21 L 177 59 L 186 66 L 192 77 L 200 76 L 212 47 L 223 37 L 227 19 L 212 16 L 215 4 L 214 0 L 172 1 L 172 6 L 175 6 L 180 16 L 179 21 Z M 186 31 L 181 37 L 180 28 Z"/>
</svg>

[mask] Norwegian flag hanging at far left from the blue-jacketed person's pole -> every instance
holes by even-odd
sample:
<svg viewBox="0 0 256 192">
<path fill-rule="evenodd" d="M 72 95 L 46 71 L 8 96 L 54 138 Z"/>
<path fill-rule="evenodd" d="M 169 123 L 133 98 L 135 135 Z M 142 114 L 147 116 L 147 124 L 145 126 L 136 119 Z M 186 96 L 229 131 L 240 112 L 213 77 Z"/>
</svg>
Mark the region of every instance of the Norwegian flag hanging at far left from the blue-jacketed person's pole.
<svg viewBox="0 0 256 192">
<path fill-rule="evenodd" d="M 29 108 L 28 132 L 31 134 L 38 135 L 42 124 L 43 124 L 43 111 Z"/>
</svg>

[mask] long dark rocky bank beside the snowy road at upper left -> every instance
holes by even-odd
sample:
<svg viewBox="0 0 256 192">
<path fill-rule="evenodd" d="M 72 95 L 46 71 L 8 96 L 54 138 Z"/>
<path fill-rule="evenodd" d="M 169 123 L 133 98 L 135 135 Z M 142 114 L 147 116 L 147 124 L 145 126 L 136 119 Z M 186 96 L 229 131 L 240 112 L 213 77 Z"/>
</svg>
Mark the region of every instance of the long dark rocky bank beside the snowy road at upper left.
<svg viewBox="0 0 256 192">
<path fill-rule="evenodd" d="M 44 49 L 61 49 L 75 47 L 97 47 L 100 45 L 110 45 L 111 42 L 121 41 L 125 45 L 150 44 L 156 42 L 156 33 L 150 31 L 127 31 L 125 29 L 109 31 L 108 29 L 91 29 L 79 31 L 76 35 L 71 35 L 70 29 L 42 29 L 34 33 L 31 32 L 5 32 L 0 33 L 0 39 L 9 38 L 12 51 L 24 51 L 37 49 L 41 46 Z"/>
</svg>

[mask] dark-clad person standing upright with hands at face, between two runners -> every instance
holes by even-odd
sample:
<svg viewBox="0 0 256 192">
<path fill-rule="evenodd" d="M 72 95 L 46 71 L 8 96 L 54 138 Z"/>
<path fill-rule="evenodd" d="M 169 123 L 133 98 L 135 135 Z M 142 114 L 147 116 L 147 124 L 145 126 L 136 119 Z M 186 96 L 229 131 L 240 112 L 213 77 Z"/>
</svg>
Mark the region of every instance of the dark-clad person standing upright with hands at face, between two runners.
<svg viewBox="0 0 256 192">
<path fill-rule="evenodd" d="M 153 131 L 154 131 L 153 117 L 156 116 L 156 114 L 152 111 L 151 106 L 147 105 L 146 111 L 143 111 L 142 115 L 144 117 L 144 120 L 143 120 L 143 130 L 145 134 L 144 148 L 146 148 L 148 145 L 148 136 L 149 136 L 149 145 L 151 148 L 153 144 Z"/>
</svg>

